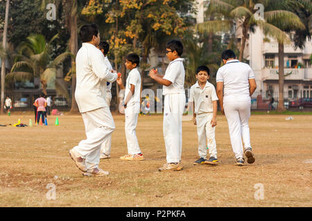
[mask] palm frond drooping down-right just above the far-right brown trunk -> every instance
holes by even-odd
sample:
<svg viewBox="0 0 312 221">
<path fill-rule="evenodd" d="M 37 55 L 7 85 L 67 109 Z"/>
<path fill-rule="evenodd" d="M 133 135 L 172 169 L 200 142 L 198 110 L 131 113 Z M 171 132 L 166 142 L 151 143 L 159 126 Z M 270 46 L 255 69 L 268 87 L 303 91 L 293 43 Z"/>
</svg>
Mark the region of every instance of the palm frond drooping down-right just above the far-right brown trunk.
<svg viewBox="0 0 312 221">
<path fill-rule="evenodd" d="M 262 28 L 265 35 L 269 35 L 270 37 L 277 39 L 280 44 L 291 44 L 291 39 L 289 39 L 288 35 L 286 35 L 286 33 L 281 29 L 266 21 L 257 21 L 257 23 L 260 28 Z"/>
</svg>

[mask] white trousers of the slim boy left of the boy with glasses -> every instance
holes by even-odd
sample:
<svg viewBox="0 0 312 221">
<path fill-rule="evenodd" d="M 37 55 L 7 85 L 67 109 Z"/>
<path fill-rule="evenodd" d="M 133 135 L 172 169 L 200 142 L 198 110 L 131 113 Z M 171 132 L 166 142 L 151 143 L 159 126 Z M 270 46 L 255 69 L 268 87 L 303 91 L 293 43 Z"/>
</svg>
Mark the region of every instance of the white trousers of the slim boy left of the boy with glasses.
<svg viewBox="0 0 312 221">
<path fill-rule="evenodd" d="M 141 153 L 139 142 L 137 141 L 137 118 L 140 112 L 140 103 L 127 104 L 125 108 L 125 139 L 127 140 L 128 154 Z"/>
</svg>

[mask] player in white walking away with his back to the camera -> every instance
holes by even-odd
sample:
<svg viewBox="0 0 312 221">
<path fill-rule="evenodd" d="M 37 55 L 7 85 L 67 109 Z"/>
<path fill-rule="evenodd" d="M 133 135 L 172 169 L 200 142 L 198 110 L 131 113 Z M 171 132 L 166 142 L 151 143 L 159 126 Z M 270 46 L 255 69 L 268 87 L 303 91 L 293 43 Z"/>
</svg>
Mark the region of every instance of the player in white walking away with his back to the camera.
<svg viewBox="0 0 312 221">
<path fill-rule="evenodd" d="M 222 60 L 225 65 L 218 69 L 216 75 L 216 93 L 221 112 L 227 117 L 236 165 L 243 166 L 245 162 L 242 137 L 244 153 L 248 158 L 247 162 L 252 164 L 255 159 L 250 145 L 248 120 L 250 118 L 250 96 L 257 88 L 254 73 L 248 64 L 236 59 L 232 50 L 223 51 Z"/>
</svg>

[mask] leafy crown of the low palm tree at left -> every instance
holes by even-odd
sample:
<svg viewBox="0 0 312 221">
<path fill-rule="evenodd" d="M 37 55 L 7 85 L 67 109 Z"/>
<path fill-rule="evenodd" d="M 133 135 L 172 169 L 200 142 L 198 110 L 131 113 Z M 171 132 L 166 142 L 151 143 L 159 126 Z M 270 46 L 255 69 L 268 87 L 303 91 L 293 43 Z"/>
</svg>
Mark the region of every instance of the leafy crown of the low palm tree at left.
<svg viewBox="0 0 312 221">
<path fill-rule="evenodd" d="M 27 41 L 19 45 L 19 54 L 15 55 L 15 64 L 11 72 L 6 75 L 8 81 L 25 81 L 34 77 L 39 77 L 42 92 L 46 94 L 46 86 L 52 79 L 55 79 L 57 66 L 68 56 L 73 57 L 71 52 L 64 52 L 55 59 L 51 57 L 51 43 L 58 38 L 58 35 L 52 37 L 49 43 L 46 42 L 43 35 L 30 35 Z M 55 89 L 61 93 L 67 94 L 66 88 L 55 81 Z"/>
</svg>

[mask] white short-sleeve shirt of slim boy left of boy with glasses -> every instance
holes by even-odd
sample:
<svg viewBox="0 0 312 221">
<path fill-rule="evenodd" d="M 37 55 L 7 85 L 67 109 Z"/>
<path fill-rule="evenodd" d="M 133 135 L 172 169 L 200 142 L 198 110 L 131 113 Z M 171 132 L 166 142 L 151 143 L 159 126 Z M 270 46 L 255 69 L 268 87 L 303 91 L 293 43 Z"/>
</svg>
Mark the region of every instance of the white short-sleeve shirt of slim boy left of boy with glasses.
<svg viewBox="0 0 312 221">
<path fill-rule="evenodd" d="M 128 97 L 128 93 L 130 92 L 130 84 L 133 84 L 135 86 L 135 94 L 132 95 L 129 104 L 139 103 L 140 102 L 140 95 L 141 95 L 141 75 L 139 73 L 139 70 L 137 68 L 133 68 L 130 70 L 130 73 L 127 77 L 127 80 L 125 81 L 125 99 Z"/>
</svg>

